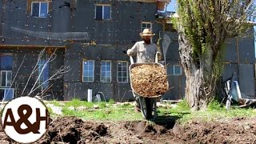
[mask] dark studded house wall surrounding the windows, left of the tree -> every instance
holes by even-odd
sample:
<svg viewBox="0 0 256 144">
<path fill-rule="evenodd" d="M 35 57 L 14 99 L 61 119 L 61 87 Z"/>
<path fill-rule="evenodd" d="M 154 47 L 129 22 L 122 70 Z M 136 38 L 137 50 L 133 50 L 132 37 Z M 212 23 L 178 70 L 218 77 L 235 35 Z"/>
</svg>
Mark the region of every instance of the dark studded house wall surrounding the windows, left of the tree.
<svg viewBox="0 0 256 144">
<path fill-rule="evenodd" d="M 58 60 L 51 67 L 55 69 L 62 65 L 70 66 L 70 71 L 64 74 L 63 78 L 56 80 L 58 84 L 52 82 L 56 89 L 54 91 L 59 91 L 60 95 L 63 94 L 58 99 L 85 99 L 89 88 L 93 90 L 94 95 L 102 92 L 107 99 L 114 98 L 120 101 L 134 99 L 130 91 L 130 82 L 117 82 L 117 62 L 129 62 L 129 58 L 123 51 L 141 40 L 139 33 L 142 31 L 142 22 L 152 23 L 156 34 L 153 42 L 158 41 L 158 31 L 162 30 L 162 25 L 156 21 L 154 16 L 157 9 L 155 3 L 55 0 L 49 2 L 49 13 L 46 18 L 33 18 L 30 15 L 31 1 L 2 0 L 0 2 L 2 4 L 2 9 L 0 9 L 2 13 L 1 50 L 7 50 L 6 46 L 17 50 L 14 54 L 14 66 L 19 66 L 18 59 L 26 53 L 26 65 L 29 65 L 31 69 L 39 50 L 43 47 L 66 47 L 58 53 Z M 70 6 L 65 6 L 66 3 Z M 96 4 L 111 6 L 110 20 L 95 20 Z M 26 49 L 26 46 L 32 46 L 33 49 Z M 33 53 L 30 50 L 36 50 L 36 52 Z M 94 82 L 82 82 L 82 60 L 84 58 L 95 61 Z M 111 61 L 111 82 L 100 82 L 102 60 Z M 17 67 L 13 70 L 14 74 L 16 70 Z M 22 90 L 28 76 L 26 71 L 19 71 L 19 73 L 21 74 L 17 81 L 21 84 L 17 91 Z M 21 75 L 26 75 L 26 77 Z M 35 78 L 31 79 L 31 84 L 32 81 L 35 81 Z M 28 86 L 29 88 L 31 86 Z"/>
</svg>

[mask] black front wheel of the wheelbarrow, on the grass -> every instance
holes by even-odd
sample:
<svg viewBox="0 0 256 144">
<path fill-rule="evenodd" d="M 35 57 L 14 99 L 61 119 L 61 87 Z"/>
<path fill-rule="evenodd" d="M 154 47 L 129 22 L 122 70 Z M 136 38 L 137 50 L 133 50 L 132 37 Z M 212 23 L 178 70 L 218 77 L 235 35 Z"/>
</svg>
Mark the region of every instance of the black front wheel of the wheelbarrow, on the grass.
<svg viewBox="0 0 256 144">
<path fill-rule="evenodd" d="M 155 98 L 140 97 L 142 115 L 146 119 L 157 117 L 157 106 Z M 154 116 L 154 117 L 153 117 Z"/>
</svg>

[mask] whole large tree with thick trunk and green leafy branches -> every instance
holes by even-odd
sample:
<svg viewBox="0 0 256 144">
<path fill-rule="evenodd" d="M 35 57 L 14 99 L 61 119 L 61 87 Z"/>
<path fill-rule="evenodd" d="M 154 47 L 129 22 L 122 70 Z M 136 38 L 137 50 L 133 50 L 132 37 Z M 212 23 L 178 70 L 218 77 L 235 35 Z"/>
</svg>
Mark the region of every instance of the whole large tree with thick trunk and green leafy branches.
<svg viewBox="0 0 256 144">
<path fill-rule="evenodd" d="M 222 75 L 227 38 L 250 30 L 251 0 L 178 0 L 179 53 L 186 74 L 186 100 L 192 110 L 205 109 Z"/>
</svg>

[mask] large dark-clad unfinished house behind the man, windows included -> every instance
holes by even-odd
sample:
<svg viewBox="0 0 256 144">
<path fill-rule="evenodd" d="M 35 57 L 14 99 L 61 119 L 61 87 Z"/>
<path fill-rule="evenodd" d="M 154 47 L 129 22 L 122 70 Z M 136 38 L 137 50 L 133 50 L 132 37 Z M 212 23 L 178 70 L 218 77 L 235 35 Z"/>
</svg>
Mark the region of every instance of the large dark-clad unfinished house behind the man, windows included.
<svg viewBox="0 0 256 144">
<path fill-rule="evenodd" d="M 163 98 L 183 98 L 178 34 L 161 12 L 169 2 L 1 0 L 2 98 L 86 99 L 91 89 L 106 99 L 134 99 L 125 52 L 145 28 L 154 32 L 167 66 L 171 89 Z M 254 38 L 230 39 L 226 46 L 224 78 L 236 72 L 241 91 L 254 97 Z"/>
</svg>

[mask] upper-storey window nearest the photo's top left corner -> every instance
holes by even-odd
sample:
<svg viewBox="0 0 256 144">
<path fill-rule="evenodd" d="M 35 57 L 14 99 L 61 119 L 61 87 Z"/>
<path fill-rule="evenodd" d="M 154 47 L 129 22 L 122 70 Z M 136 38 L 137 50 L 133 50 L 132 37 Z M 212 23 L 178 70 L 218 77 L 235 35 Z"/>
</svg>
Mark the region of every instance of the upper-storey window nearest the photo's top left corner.
<svg viewBox="0 0 256 144">
<path fill-rule="evenodd" d="M 32 17 L 46 18 L 48 14 L 48 2 L 32 2 Z"/>
</svg>

